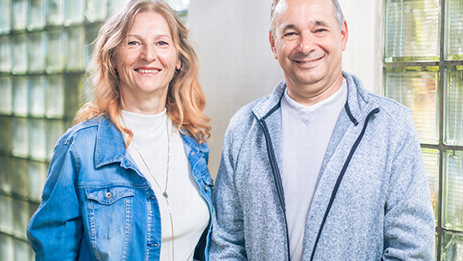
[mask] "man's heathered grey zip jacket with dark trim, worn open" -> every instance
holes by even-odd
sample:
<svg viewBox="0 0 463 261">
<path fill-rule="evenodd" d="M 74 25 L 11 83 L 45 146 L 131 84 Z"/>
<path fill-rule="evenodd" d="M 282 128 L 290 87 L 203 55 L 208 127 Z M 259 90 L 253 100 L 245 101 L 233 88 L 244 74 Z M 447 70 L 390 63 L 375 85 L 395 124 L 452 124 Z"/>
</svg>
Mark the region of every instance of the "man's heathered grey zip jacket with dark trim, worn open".
<svg viewBox="0 0 463 261">
<path fill-rule="evenodd" d="M 338 175 L 375 108 L 380 112 L 368 122 L 350 160 L 314 260 L 433 260 L 435 220 L 412 112 L 343 75 L 358 124 L 341 111 L 308 213 L 303 260 L 310 260 Z M 279 104 L 284 88 L 282 81 L 231 118 L 213 194 L 212 261 L 288 260 L 283 206 L 256 121 Z M 281 171 L 281 109 L 265 123 Z"/>
</svg>

